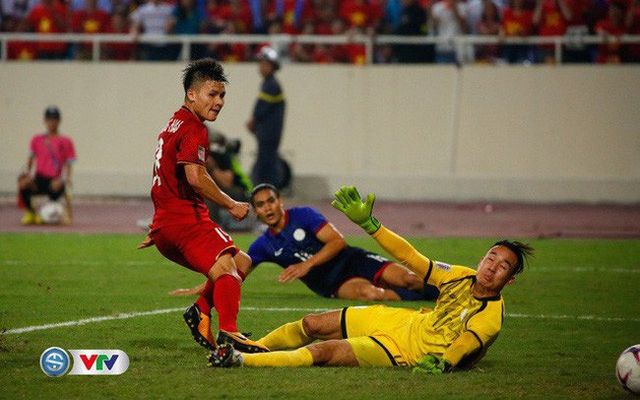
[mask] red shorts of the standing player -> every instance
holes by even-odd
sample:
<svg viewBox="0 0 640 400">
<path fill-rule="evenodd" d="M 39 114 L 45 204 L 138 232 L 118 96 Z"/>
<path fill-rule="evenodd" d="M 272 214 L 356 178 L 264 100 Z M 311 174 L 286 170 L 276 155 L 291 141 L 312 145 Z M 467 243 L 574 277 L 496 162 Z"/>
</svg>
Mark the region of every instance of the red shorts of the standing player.
<svg viewBox="0 0 640 400">
<path fill-rule="evenodd" d="M 205 276 L 222 254 L 238 252 L 231 236 L 211 220 L 154 227 L 150 236 L 163 256 Z"/>
</svg>

